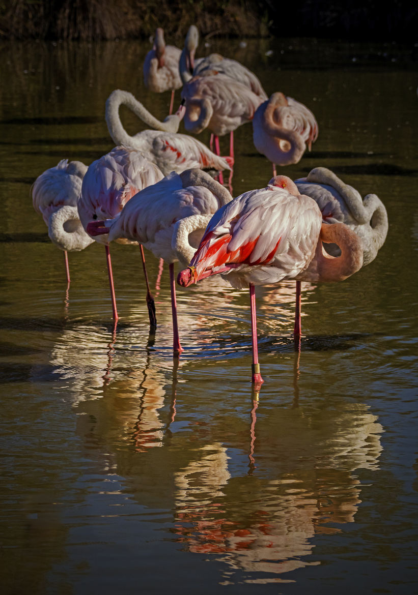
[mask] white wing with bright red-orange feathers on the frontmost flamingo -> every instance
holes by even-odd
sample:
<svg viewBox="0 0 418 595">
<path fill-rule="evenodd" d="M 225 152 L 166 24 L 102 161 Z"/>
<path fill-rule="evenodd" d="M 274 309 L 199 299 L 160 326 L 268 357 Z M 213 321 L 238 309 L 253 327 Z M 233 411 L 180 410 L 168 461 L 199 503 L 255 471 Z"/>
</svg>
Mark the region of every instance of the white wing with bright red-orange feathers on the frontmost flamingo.
<svg viewBox="0 0 418 595">
<path fill-rule="evenodd" d="M 313 256 L 321 215 L 316 204 L 284 189 L 251 190 L 211 219 L 191 261 L 196 280 L 247 265 L 274 265 L 283 277 Z"/>
</svg>

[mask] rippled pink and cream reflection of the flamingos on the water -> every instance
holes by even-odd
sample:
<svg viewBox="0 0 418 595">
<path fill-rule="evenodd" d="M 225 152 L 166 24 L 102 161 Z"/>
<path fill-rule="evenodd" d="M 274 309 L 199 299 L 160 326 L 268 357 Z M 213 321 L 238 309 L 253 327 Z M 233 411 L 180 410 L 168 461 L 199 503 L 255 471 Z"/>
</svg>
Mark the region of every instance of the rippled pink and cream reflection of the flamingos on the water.
<svg viewBox="0 0 418 595">
<path fill-rule="evenodd" d="M 105 380 L 109 360 L 105 353 L 96 359 L 92 343 L 100 374 L 84 369 L 86 385 L 74 386 L 84 394 L 74 401 L 78 433 L 86 449 L 97 452 L 102 472 L 123 478 L 123 492 L 138 503 L 171 509 L 173 541 L 221 563 L 221 584 L 241 582 L 237 572 L 247 583 L 281 582 L 286 573 L 319 564 L 315 537 L 355 521 L 361 502 L 356 471 L 379 468 L 378 417 L 364 403 L 338 398 L 332 408 L 304 407 L 303 353 L 295 353 L 288 408 L 247 400 L 233 422 L 224 404 L 205 418 L 208 410 L 198 412 L 201 405 L 192 405 L 179 384 L 181 362 L 179 369 L 177 362 L 164 364 L 152 350 L 134 355 L 123 343 L 118 353 L 113 337 L 113 371 Z M 65 377 L 63 369 L 60 374 Z"/>
</svg>

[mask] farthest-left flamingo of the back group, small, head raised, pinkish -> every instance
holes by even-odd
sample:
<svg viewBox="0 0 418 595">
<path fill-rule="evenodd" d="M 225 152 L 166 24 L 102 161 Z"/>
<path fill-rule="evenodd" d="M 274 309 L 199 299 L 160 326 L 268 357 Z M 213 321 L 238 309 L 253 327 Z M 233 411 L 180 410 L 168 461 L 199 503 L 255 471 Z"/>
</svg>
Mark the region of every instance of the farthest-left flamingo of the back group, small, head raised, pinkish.
<svg viewBox="0 0 418 595">
<path fill-rule="evenodd" d="M 181 49 L 166 45 L 164 31 L 155 30 L 154 45 L 144 61 L 144 83 L 153 93 L 171 91 L 170 114 L 173 111 L 174 92 L 182 86 L 179 73 Z"/>
</svg>

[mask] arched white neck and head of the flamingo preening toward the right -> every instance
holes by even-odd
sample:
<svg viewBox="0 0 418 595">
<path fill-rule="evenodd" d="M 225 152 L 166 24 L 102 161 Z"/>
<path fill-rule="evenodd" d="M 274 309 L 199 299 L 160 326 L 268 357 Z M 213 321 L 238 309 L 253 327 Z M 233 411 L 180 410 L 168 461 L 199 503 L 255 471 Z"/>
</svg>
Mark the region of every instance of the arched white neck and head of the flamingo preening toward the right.
<svg viewBox="0 0 418 595">
<path fill-rule="evenodd" d="M 108 96 L 105 111 L 107 127 L 116 145 L 125 145 L 133 149 L 142 148 L 140 137 L 128 134 L 121 123 L 119 115 L 121 105 L 126 105 L 129 109 L 132 109 L 133 113 L 149 128 L 166 132 L 177 132 L 179 129 L 181 119 L 179 115 L 173 114 L 167 116 L 166 120 L 161 122 L 157 118 L 154 118 L 148 109 L 135 99 L 132 93 L 116 89 Z"/>
</svg>

